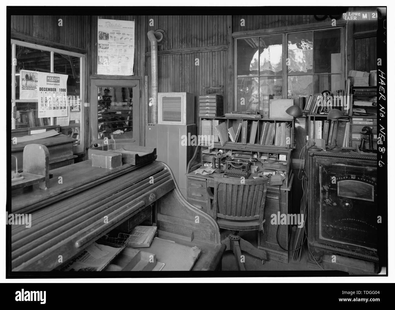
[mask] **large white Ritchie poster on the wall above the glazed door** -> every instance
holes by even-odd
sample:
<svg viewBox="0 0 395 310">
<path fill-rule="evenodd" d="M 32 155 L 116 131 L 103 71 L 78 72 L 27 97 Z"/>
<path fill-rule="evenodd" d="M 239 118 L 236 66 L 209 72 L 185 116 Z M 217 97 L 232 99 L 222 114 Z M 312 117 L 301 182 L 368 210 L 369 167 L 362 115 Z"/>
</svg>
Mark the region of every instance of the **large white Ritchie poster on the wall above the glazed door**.
<svg viewBox="0 0 395 310">
<path fill-rule="evenodd" d="M 134 22 L 98 19 L 97 74 L 133 75 Z"/>
</svg>

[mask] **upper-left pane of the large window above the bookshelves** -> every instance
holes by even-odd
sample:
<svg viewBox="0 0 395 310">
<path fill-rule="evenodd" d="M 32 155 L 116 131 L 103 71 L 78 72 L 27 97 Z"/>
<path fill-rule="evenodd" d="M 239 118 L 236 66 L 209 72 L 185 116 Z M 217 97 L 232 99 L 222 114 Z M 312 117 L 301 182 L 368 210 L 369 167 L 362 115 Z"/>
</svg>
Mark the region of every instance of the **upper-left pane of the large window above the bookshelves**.
<svg viewBox="0 0 395 310">
<path fill-rule="evenodd" d="M 237 75 L 258 76 L 259 38 L 237 40 Z"/>
</svg>

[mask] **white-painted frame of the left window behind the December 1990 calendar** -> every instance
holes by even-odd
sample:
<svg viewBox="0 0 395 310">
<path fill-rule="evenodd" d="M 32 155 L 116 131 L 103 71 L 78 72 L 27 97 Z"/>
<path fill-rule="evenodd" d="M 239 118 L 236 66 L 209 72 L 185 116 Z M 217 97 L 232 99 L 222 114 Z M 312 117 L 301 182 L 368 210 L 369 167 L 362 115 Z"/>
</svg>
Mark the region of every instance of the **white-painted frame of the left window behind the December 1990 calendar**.
<svg viewBox="0 0 395 310">
<path fill-rule="evenodd" d="M 86 74 L 85 74 L 85 64 L 86 64 L 86 54 L 80 54 L 76 52 L 71 52 L 68 50 L 61 50 L 59 48 L 53 48 L 49 46 L 43 46 L 43 45 L 38 45 L 35 43 L 29 43 L 29 42 L 24 42 L 24 41 L 18 41 L 15 39 L 11 39 L 11 60 L 15 59 L 16 56 L 16 45 L 19 46 L 25 46 L 25 47 L 30 47 L 30 48 L 35 48 L 38 50 L 43 50 L 50 52 L 51 55 L 51 64 L 50 64 L 50 72 L 54 72 L 54 53 L 58 54 L 64 54 L 68 56 L 74 56 L 74 57 L 79 57 L 80 58 L 80 97 L 81 97 L 81 120 L 79 124 L 79 130 L 80 130 L 80 143 L 78 145 L 73 146 L 73 153 L 74 154 L 79 154 L 79 153 L 84 153 L 85 152 L 85 109 L 84 109 L 84 102 L 86 102 Z M 11 130 L 15 129 L 15 118 L 13 117 L 13 111 L 14 107 L 16 106 L 17 102 L 37 102 L 37 99 L 16 99 L 15 98 L 15 82 L 16 82 L 16 72 L 15 72 L 15 65 L 11 66 Z M 50 125 L 53 125 L 54 119 L 53 117 L 50 117 Z M 68 127 L 68 126 L 64 126 Z M 61 129 L 64 127 L 60 127 Z"/>
</svg>

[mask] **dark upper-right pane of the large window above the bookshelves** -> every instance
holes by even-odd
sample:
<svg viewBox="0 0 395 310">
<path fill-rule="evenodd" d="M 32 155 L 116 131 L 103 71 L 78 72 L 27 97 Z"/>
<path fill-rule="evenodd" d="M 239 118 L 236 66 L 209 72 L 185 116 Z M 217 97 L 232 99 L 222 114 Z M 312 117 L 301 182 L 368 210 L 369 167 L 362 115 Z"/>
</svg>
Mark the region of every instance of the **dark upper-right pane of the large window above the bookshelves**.
<svg viewBox="0 0 395 310">
<path fill-rule="evenodd" d="M 314 73 L 340 72 L 340 29 L 314 32 Z"/>
</svg>

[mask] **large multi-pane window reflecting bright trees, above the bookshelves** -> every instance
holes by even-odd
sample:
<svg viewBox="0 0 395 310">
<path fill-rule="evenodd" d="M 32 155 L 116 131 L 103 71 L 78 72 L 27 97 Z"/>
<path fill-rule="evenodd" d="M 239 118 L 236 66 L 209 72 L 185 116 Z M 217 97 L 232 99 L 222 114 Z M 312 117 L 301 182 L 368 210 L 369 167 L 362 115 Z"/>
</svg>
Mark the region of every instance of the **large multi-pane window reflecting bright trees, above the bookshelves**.
<svg viewBox="0 0 395 310">
<path fill-rule="evenodd" d="M 344 90 L 342 28 L 236 39 L 237 111 L 267 115 L 270 99 Z"/>
</svg>

